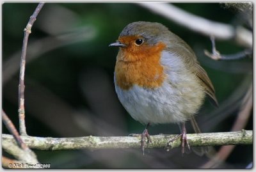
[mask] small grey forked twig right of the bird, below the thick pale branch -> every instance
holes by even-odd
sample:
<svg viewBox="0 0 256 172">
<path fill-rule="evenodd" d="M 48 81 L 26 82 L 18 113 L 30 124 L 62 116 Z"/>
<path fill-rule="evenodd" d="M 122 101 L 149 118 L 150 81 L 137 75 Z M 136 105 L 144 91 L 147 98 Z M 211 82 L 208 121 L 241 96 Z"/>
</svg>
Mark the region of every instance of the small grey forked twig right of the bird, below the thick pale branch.
<svg viewBox="0 0 256 172">
<path fill-rule="evenodd" d="M 231 55 L 221 55 L 219 51 L 216 50 L 216 45 L 215 45 L 215 39 L 214 36 L 211 36 L 211 42 L 212 42 L 212 53 L 205 50 L 204 54 L 208 56 L 211 59 L 214 60 L 234 60 L 234 59 L 241 59 L 245 58 L 246 56 L 252 54 L 251 49 L 246 49 L 242 52 L 237 52 L 236 54 L 231 54 Z"/>
</svg>

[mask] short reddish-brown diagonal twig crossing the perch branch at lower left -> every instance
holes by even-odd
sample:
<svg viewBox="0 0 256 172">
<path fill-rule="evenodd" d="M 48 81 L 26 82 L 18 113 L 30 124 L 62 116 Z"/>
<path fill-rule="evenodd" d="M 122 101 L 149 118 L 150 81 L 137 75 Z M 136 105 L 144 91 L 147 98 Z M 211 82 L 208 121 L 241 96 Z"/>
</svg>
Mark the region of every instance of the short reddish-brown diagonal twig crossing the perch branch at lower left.
<svg viewBox="0 0 256 172">
<path fill-rule="evenodd" d="M 19 136 L 19 132 L 16 130 L 12 121 L 10 120 L 10 118 L 8 118 L 8 116 L 6 115 L 6 113 L 4 113 L 3 110 L 2 110 L 2 120 L 3 120 L 6 128 L 13 135 L 14 139 L 17 141 L 20 148 L 22 148 L 23 150 L 26 150 L 28 148 L 28 146 L 23 143 L 22 139 Z"/>
</svg>

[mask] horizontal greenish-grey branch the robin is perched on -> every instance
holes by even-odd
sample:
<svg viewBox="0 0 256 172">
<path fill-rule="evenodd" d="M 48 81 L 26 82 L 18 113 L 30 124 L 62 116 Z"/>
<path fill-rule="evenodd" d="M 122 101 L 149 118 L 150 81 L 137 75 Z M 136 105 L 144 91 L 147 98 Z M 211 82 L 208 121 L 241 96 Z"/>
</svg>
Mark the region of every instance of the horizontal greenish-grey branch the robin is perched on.
<svg viewBox="0 0 256 172">
<path fill-rule="evenodd" d="M 150 136 L 152 143 L 146 143 L 146 148 L 166 148 L 167 142 L 177 135 Z M 117 149 L 140 148 L 141 137 L 33 137 L 21 136 L 30 148 L 38 150 L 79 150 L 79 149 Z M 252 144 L 252 130 L 237 132 L 216 132 L 202 134 L 187 134 L 190 146 L 220 146 L 220 145 L 250 145 Z M 3 134 L 2 139 L 8 143 L 15 143 L 12 135 Z M 172 148 L 180 146 L 180 139 L 173 141 Z"/>
</svg>

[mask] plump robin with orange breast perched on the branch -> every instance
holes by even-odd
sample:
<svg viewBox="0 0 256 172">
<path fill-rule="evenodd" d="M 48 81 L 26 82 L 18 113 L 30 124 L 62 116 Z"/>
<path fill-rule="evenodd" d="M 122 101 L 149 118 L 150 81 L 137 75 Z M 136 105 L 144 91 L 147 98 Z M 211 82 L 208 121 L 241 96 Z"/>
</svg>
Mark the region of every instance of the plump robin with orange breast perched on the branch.
<svg viewBox="0 0 256 172">
<path fill-rule="evenodd" d="M 183 154 L 185 145 L 189 148 L 185 121 L 191 120 L 200 132 L 193 116 L 205 95 L 218 105 L 212 82 L 195 53 L 157 22 L 132 22 L 109 46 L 119 47 L 114 73 L 117 96 L 134 120 L 147 125 L 141 134 L 143 153 L 145 138 L 151 142 L 149 125 L 178 123 Z"/>
</svg>

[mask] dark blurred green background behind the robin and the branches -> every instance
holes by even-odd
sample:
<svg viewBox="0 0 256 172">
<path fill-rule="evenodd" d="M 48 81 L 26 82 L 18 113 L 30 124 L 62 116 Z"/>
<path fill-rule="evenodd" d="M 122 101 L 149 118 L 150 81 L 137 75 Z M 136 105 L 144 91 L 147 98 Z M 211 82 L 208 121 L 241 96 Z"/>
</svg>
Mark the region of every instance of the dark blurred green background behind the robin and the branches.
<svg viewBox="0 0 256 172">
<path fill-rule="evenodd" d="M 175 3 L 175 6 L 232 26 L 246 25 L 243 16 L 218 3 Z M 3 109 L 18 124 L 18 85 L 23 29 L 37 3 L 3 4 Z M 30 136 L 128 136 L 145 126 L 129 116 L 115 93 L 115 42 L 130 22 L 161 22 L 195 51 L 214 84 L 220 107 L 208 100 L 196 116 L 203 132 L 230 131 L 252 84 L 252 58 L 214 61 L 207 36 L 179 26 L 134 3 L 46 3 L 29 36 L 25 75 L 26 128 Z M 243 51 L 233 40 L 216 41 L 222 54 Z M 198 118 L 199 117 L 199 118 Z M 252 114 L 245 129 L 252 130 Z M 193 132 L 188 123 L 189 132 Z M 175 124 L 155 125 L 150 134 L 179 134 Z M 8 133 L 3 125 L 3 133 Z M 216 147 L 219 149 L 220 147 Z M 206 157 L 180 155 L 180 148 L 146 150 L 35 150 L 51 168 L 199 168 Z M 6 157 L 11 157 L 3 152 Z M 252 145 L 236 146 L 218 168 L 246 168 Z"/>
</svg>

